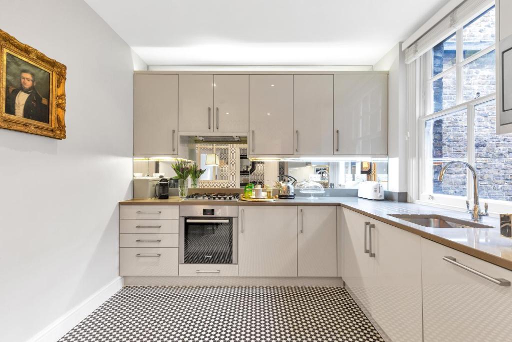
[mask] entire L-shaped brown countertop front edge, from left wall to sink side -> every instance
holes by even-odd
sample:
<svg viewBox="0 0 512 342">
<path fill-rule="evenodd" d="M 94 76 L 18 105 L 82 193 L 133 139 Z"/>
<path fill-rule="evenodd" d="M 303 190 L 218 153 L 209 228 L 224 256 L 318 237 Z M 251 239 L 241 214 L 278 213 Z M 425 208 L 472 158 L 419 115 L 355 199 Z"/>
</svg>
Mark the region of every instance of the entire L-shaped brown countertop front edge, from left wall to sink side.
<svg viewBox="0 0 512 342">
<path fill-rule="evenodd" d="M 283 199 L 285 201 L 286 199 Z M 147 202 L 146 202 L 147 201 Z M 239 202 L 223 202 L 223 203 L 212 203 L 211 201 L 190 201 L 190 202 L 180 202 L 179 200 L 173 199 L 166 201 L 165 199 L 159 199 L 159 200 L 147 200 L 147 199 L 130 199 L 125 200 L 122 202 L 119 202 L 119 205 L 123 206 L 141 206 L 141 205 L 151 205 L 151 206 L 180 206 L 180 205 L 228 205 L 228 206 L 272 206 L 272 205 L 280 205 L 280 206 L 341 206 L 343 208 L 347 208 L 349 210 L 355 211 L 359 214 L 366 215 L 368 217 L 371 217 L 373 219 L 376 219 L 380 222 L 386 223 L 388 225 L 391 225 L 393 227 L 403 229 L 405 231 L 408 231 L 410 233 L 419 235 L 421 237 L 424 237 L 426 239 L 429 239 L 435 243 L 441 244 L 446 247 L 453 248 L 459 252 L 466 253 L 468 255 L 474 256 L 476 258 L 479 258 L 481 260 L 487 261 L 488 263 L 491 263 L 493 265 L 502 267 L 504 269 L 507 269 L 509 271 L 512 271 L 512 261 L 506 260 L 504 258 L 501 258 L 497 255 L 489 254 L 483 251 L 480 251 L 478 249 L 474 249 L 465 245 L 457 244 L 451 240 L 445 239 L 443 237 L 430 234 L 421 230 L 417 230 L 413 227 L 402 225 L 397 222 L 394 222 L 390 219 L 387 219 L 386 217 L 375 215 L 372 213 L 369 213 L 365 210 L 361 210 L 355 207 L 352 207 L 347 204 L 339 203 L 339 202 L 302 202 L 302 203 L 296 203 L 296 202 L 246 202 L 246 201 L 239 201 Z"/>
</svg>

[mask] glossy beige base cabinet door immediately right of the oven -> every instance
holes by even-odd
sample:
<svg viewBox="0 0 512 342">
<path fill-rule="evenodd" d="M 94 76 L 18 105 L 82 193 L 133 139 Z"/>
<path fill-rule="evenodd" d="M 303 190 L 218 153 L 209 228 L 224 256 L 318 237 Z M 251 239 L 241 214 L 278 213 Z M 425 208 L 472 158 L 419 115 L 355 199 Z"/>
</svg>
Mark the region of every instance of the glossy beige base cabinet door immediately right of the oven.
<svg viewBox="0 0 512 342">
<path fill-rule="evenodd" d="M 297 276 L 297 207 L 240 206 L 238 274 Z"/>
</svg>

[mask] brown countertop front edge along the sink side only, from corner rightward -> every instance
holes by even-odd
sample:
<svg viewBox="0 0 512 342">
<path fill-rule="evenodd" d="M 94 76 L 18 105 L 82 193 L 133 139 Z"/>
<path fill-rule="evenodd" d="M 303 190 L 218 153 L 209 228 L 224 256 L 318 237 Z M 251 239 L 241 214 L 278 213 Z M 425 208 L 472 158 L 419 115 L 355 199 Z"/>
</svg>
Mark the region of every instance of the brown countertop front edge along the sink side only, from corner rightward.
<svg viewBox="0 0 512 342">
<path fill-rule="evenodd" d="M 429 239 L 429 240 L 431 240 L 431 241 L 433 241 L 435 243 L 438 243 L 440 245 L 453 248 L 453 249 L 455 249 L 455 250 L 457 250 L 459 252 L 466 253 L 468 255 L 474 256 L 474 257 L 479 258 L 481 260 L 487 261 L 488 263 L 491 263 L 493 265 L 500 266 L 500 267 L 505 268 L 505 269 L 507 269 L 509 271 L 512 271 L 512 261 L 506 260 L 504 258 L 501 258 L 501 257 L 497 256 L 497 255 L 489 254 L 489 253 L 480 251 L 480 250 L 475 249 L 475 248 L 471 248 L 471 247 L 468 247 L 468 246 L 465 246 L 465 245 L 457 244 L 456 242 L 453 242 L 451 240 L 442 238 L 440 236 L 437 236 L 437 235 L 434 235 L 434 234 L 430 234 L 430 233 L 427 233 L 427 232 L 423 232 L 421 230 L 417 230 L 417 229 L 415 229 L 413 227 L 410 227 L 410 226 L 407 226 L 407 225 L 399 224 L 397 222 L 394 222 L 392 220 L 387 219 L 386 217 L 375 215 L 375 214 L 366 212 L 364 210 L 351 207 L 351 206 L 346 205 L 346 204 L 339 204 L 339 205 L 344 207 L 344 208 L 347 208 L 347 209 L 350 209 L 352 211 L 355 211 L 355 212 L 357 212 L 359 214 L 362 214 L 362 215 L 371 217 L 373 219 L 376 219 L 376 220 L 378 220 L 380 222 L 383 222 L 385 224 L 388 224 L 388 225 L 391 225 L 393 227 L 396 227 L 396 228 L 399 228 L 399 229 L 403 229 L 403 230 L 408 231 L 410 233 L 419 235 L 421 237 Z"/>
</svg>

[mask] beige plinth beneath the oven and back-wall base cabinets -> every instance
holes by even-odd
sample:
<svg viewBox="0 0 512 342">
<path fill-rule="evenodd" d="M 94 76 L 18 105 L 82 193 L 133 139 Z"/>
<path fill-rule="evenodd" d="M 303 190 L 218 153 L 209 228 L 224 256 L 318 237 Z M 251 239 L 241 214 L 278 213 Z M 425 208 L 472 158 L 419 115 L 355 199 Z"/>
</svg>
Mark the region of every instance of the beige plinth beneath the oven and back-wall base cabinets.
<svg viewBox="0 0 512 342">
<path fill-rule="evenodd" d="M 342 287 L 338 277 L 125 276 L 124 286 L 327 286 Z"/>
</svg>

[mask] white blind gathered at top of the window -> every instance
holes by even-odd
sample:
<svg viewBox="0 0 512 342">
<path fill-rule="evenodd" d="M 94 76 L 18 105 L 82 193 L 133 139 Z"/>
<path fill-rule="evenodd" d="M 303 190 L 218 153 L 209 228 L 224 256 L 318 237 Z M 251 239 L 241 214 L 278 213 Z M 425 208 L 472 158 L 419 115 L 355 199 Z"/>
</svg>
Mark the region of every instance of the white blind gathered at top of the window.
<svg viewBox="0 0 512 342">
<path fill-rule="evenodd" d="M 413 62 L 423 53 L 432 49 L 492 4 L 494 4 L 494 0 L 464 1 L 406 49 L 406 63 Z"/>
</svg>

